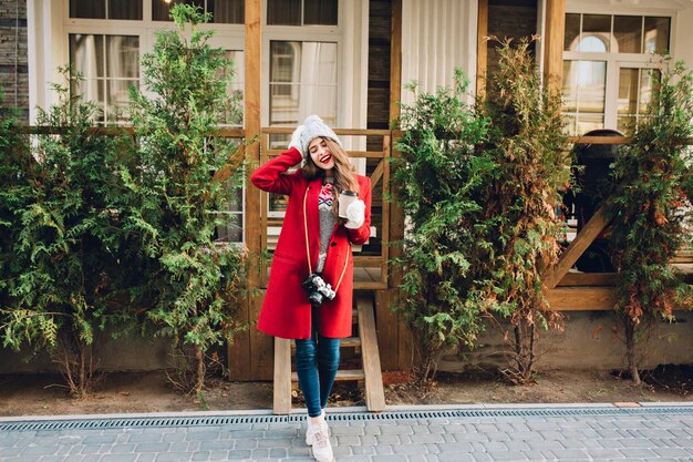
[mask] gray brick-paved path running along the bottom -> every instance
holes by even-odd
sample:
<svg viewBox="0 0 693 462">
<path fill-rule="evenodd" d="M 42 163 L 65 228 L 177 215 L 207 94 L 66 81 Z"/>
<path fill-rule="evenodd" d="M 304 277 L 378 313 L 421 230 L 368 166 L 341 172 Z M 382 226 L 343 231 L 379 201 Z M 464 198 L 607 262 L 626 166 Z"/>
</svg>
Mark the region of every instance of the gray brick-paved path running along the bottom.
<svg viewBox="0 0 693 462">
<path fill-rule="evenodd" d="M 329 414 L 339 462 L 693 461 L 693 405 L 407 408 Z M 187 418 L 186 418 L 187 415 Z M 2 462 L 311 461 L 302 417 L 0 419 Z M 126 419 L 125 419 L 126 418 Z M 70 428 L 75 424 L 85 428 Z M 52 427 L 51 427 L 52 425 Z M 48 428 L 46 428 L 48 427 Z M 110 427 L 110 428 L 108 428 Z"/>
</svg>

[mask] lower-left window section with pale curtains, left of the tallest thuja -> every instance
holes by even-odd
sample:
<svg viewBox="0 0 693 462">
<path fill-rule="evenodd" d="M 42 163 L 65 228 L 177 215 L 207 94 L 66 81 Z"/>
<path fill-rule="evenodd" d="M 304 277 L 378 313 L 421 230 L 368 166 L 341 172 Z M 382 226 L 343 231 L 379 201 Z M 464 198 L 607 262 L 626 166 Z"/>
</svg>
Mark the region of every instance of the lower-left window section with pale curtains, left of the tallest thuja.
<svg viewBox="0 0 693 462">
<path fill-rule="evenodd" d="M 128 88 L 139 84 L 139 38 L 70 34 L 70 63 L 84 78 L 71 91 L 97 104 L 97 121 L 123 121 Z"/>
</svg>

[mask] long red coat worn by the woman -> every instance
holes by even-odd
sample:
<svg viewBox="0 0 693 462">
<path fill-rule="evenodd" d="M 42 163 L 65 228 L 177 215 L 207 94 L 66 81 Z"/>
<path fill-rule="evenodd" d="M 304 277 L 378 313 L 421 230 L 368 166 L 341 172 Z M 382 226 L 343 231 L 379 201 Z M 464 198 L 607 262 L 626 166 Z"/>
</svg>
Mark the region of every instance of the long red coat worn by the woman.
<svg viewBox="0 0 693 462">
<path fill-rule="evenodd" d="M 259 167 L 250 176 L 254 185 L 268 193 L 289 196 L 287 213 L 275 249 L 269 284 L 258 318 L 258 329 L 270 336 L 307 339 L 311 336 L 311 306 L 301 284 L 309 275 L 304 223 L 312 269 L 320 251 L 320 216 L 318 195 L 322 178 L 308 181 L 301 172 L 286 174 L 301 162 L 296 148 L 282 153 Z M 356 229 L 337 225 L 328 247 L 322 278 L 337 291 L 333 300 L 318 308 L 318 331 L 324 337 L 351 336 L 353 255 L 351 244 L 364 244 L 371 234 L 371 181 L 355 175 L 359 197 L 365 203 L 365 219 Z"/>
</svg>

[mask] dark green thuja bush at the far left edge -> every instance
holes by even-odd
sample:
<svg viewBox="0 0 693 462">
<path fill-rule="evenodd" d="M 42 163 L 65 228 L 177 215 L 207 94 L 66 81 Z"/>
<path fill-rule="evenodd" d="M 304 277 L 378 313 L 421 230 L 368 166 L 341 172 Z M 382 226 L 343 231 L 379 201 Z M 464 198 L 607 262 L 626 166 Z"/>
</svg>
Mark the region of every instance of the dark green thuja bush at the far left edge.
<svg viewBox="0 0 693 462">
<path fill-rule="evenodd" d="M 70 391 L 84 394 L 96 339 L 130 318 L 108 290 L 122 273 L 116 204 L 125 189 L 115 172 L 128 138 L 97 134 L 96 106 L 70 92 L 80 75 L 61 71 L 65 83 L 53 85 L 59 102 L 39 111 L 43 130 L 31 154 L 13 123 L 2 126 L 2 336 L 15 350 L 48 350 Z"/>
</svg>

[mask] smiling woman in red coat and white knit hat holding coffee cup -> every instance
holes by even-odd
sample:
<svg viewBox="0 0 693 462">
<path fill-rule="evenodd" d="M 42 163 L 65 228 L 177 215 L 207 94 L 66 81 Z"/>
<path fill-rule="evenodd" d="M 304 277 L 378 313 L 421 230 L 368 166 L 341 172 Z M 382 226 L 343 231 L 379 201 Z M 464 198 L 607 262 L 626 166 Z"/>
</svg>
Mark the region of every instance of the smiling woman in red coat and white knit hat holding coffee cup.
<svg viewBox="0 0 693 462">
<path fill-rule="evenodd" d="M 299 163 L 299 171 L 287 173 Z M 317 460 L 331 462 L 324 407 L 339 368 L 340 338 L 351 336 L 351 244 L 364 244 L 370 236 L 371 182 L 353 172 L 341 142 L 317 115 L 306 119 L 289 150 L 250 181 L 289 196 L 258 329 L 296 339 L 296 370 L 309 415 L 306 443 Z M 359 197 L 349 204 L 348 218 L 338 216 L 343 191 Z"/>
</svg>

